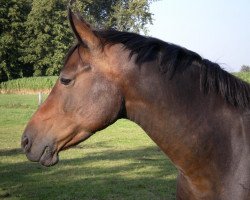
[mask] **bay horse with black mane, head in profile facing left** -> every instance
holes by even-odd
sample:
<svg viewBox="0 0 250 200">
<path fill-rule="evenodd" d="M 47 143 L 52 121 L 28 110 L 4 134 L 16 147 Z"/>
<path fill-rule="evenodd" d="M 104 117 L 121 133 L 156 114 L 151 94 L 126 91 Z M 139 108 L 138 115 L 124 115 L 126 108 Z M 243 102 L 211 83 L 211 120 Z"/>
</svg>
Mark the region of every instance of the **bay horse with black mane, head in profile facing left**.
<svg viewBox="0 0 250 200">
<path fill-rule="evenodd" d="M 26 126 L 29 160 L 58 153 L 120 118 L 141 126 L 178 169 L 178 200 L 250 199 L 250 85 L 197 53 L 152 37 L 94 30 L 77 38 Z"/>
</svg>

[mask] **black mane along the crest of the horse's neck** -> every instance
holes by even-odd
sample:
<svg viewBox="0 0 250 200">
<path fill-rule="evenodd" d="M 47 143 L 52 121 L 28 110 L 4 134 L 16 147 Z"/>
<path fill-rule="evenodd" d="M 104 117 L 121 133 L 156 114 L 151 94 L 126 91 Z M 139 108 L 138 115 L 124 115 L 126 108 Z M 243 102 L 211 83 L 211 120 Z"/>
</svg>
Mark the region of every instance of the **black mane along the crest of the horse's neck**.
<svg viewBox="0 0 250 200">
<path fill-rule="evenodd" d="M 205 93 L 214 91 L 235 107 L 250 107 L 250 85 L 224 71 L 218 64 L 203 59 L 195 52 L 136 33 L 106 30 L 95 31 L 95 34 L 104 39 L 104 45 L 122 43 L 131 51 L 130 57 L 137 55 L 138 65 L 157 60 L 162 73 L 169 73 L 170 79 L 175 73 L 188 69 L 195 61 L 201 70 L 202 91 Z"/>
</svg>

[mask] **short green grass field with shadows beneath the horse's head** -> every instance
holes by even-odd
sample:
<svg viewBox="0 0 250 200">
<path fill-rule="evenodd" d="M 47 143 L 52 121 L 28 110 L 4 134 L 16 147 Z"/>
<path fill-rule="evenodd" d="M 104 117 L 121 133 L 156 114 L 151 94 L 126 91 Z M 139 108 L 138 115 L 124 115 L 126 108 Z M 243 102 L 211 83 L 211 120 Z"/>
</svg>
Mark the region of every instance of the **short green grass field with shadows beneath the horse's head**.
<svg viewBox="0 0 250 200">
<path fill-rule="evenodd" d="M 36 95 L 0 95 L 0 199 L 171 200 L 177 171 L 135 124 L 120 120 L 50 168 L 20 149 Z"/>
</svg>

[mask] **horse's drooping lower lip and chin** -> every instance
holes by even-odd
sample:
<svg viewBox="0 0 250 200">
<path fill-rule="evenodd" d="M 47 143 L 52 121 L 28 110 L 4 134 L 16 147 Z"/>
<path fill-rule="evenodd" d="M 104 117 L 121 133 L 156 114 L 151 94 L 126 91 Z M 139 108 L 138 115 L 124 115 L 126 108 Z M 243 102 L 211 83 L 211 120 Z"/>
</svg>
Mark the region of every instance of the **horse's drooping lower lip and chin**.
<svg viewBox="0 0 250 200">
<path fill-rule="evenodd" d="M 43 166 L 50 167 L 58 163 L 58 161 L 58 153 L 53 151 L 49 146 L 46 146 L 39 159 L 39 163 Z"/>
</svg>

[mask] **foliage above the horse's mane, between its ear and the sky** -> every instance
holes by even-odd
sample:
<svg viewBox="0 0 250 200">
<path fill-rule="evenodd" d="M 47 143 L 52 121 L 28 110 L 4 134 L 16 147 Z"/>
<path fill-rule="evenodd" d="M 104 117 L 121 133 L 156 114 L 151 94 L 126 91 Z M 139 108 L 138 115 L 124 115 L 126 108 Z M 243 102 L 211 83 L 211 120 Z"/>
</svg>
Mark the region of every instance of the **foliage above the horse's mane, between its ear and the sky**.
<svg viewBox="0 0 250 200">
<path fill-rule="evenodd" d="M 146 32 L 152 23 L 150 4 L 155 0 L 78 0 L 76 10 L 95 28 L 114 28 L 120 31 Z M 80 8 L 80 9 L 79 9 Z"/>
</svg>

